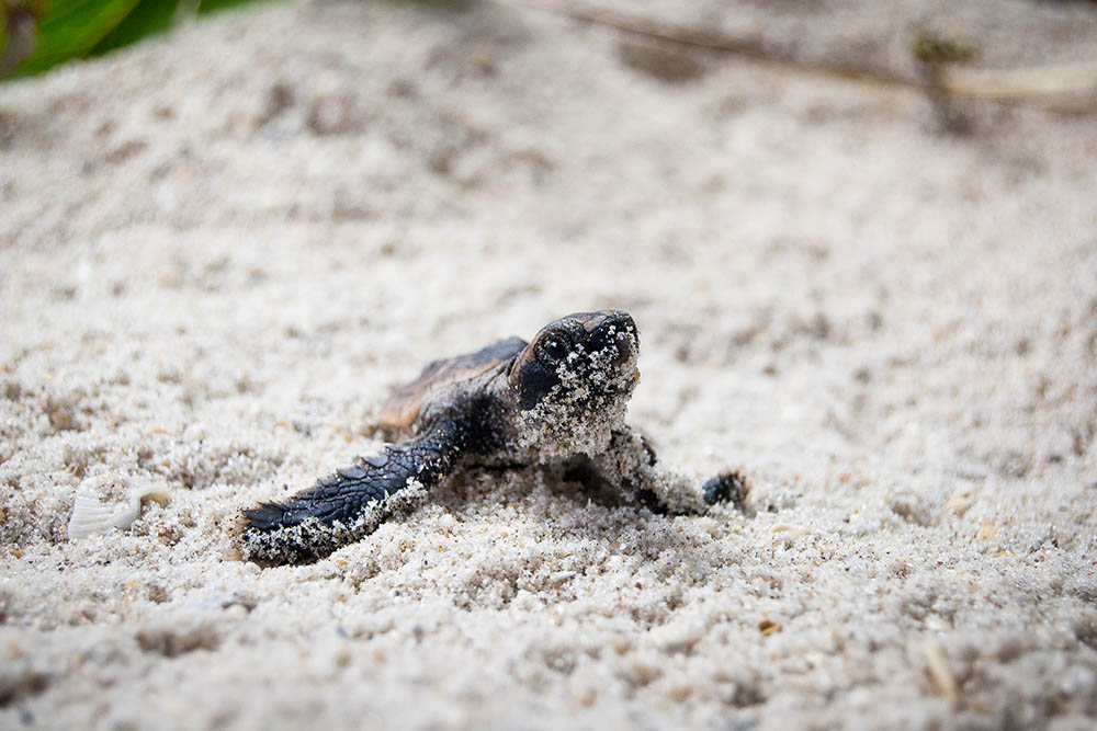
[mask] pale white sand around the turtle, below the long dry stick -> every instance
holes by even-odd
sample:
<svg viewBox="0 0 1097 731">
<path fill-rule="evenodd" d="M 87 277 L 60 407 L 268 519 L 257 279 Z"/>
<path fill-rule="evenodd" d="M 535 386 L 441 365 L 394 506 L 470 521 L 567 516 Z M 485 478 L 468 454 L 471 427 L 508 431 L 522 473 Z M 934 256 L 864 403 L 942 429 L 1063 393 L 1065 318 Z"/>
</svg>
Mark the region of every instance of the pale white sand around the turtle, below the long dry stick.
<svg viewBox="0 0 1097 731">
<path fill-rule="evenodd" d="M 1094 117 L 633 43 L 317 0 L 0 88 L 0 728 L 1094 728 Z M 603 306 L 756 515 L 484 475 L 225 558 L 427 361 Z M 69 541 L 89 478 L 170 500 Z"/>
</svg>

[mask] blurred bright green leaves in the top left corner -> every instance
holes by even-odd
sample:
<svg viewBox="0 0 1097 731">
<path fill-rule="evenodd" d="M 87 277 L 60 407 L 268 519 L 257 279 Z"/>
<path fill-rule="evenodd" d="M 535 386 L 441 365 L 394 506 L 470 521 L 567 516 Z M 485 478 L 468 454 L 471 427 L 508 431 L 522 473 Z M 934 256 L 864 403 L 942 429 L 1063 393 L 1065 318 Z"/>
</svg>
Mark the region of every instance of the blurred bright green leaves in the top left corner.
<svg viewBox="0 0 1097 731">
<path fill-rule="evenodd" d="M 99 56 L 178 21 L 263 0 L 0 0 L 0 78 Z"/>
</svg>

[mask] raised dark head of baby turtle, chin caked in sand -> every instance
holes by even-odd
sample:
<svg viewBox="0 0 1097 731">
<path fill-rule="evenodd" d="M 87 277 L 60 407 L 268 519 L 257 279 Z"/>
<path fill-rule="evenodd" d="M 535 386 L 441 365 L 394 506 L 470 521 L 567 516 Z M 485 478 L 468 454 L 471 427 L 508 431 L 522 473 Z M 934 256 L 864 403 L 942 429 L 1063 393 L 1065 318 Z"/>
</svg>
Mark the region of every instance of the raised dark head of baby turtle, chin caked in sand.
<svg viewBox="0 0 1097 731">
<path fill-rule="evenodd" d="M 599 452 L 596 442 L 624 421 L 638 355 L 636 323 L 621 310 L 576 312 L 542 328 L 507 374 L 523 441 L 553 454 Z"/>
</svg>

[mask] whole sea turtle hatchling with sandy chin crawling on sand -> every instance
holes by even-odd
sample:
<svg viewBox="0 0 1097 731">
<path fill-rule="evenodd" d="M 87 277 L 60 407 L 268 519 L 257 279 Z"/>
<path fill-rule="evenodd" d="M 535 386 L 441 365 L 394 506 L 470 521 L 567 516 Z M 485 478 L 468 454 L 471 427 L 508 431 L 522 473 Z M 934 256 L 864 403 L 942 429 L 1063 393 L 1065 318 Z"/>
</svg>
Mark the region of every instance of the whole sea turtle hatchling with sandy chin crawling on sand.
<svg viewBox="0 0 1097 731">
<path fill-rule="evenodd" d="M 655 467 L 624 423 L 640 370 L 640 336 L 620 310 L 576 312 L 520 338 L 436 361 L 382 407 L 404 441 L 359 458 L 281 503 L 244 511 L 245 558 L 307 561 L 372 532 L 463 468 L 551 465 L 621 489 L 660 513 L 700 513 L 740 501 L 736 473 L 695 489 Z"/>
</svg>

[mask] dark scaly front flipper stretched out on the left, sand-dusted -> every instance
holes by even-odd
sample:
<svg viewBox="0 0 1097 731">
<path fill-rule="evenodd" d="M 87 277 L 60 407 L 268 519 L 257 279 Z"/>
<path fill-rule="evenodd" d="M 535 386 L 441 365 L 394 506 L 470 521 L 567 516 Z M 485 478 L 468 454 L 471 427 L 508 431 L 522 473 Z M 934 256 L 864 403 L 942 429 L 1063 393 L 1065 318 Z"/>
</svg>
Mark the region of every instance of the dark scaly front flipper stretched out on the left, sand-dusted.
<svg viewBox="0 0 1097 731">
<path fill-rule="evenodd" d="M 417 438 L 359 458 L 285 502 L 244 511 L 244 557 L 295 563 L 324 558 L 361 539 L 450 475 L 464 442 L 460 425 L 440 420 Z"/>
</svg>

